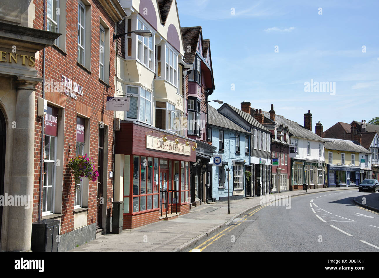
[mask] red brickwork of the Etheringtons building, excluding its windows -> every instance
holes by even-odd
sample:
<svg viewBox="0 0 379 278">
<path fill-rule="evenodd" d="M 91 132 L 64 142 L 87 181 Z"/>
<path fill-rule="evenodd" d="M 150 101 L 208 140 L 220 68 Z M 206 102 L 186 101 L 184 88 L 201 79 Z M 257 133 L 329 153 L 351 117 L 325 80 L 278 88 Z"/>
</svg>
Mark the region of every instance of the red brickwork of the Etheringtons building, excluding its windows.
<svg viewBox="0 0 379 278">
<path fill-rule="evenodd" d="M 45 63 L 45 80 L 58 81 L 61 80 L 61 75 L 67 76 L 69 79 L 76 81 L 83 86 L 83 96 L 78 96 L 75 100 L 71 97 L 66 97 L 64 92 L 46 93 L 46 98 L 49 101 L 55 102 L 64 107 L 64 161 L 60 162 L 63 166 L 63 196 L 62 196 L 62 214 L 61 217 L 61 234 L 72 231 L 74 228 L 74 182 L 73 177 L 67 170 L 67 159 L 75 156 L 75 149 L 68 152 L 69 144 L 76 143 L 76 122 L 77 112 L 79 109 L 84 109 L 89 112 L 90 116 L 90 141 L 89 141 L 89 157 L 93 157 L 94 166 L 98 165 L 98 140 L 99 140 L 99 121 L 103 121 L 108 125 L 108 153 L 104 154 L 108 160 L 108 169 L 105 168 L 105 174 L 112 171 L 113 163 L 113 112 L 105 111 L 104 105 L 106 97 L 103 96 L 104 85 L 99 81 L 99 36 L 100 36 L 100 17 L 108 25 L 110 55 L 105 55 L 105 60 L 110 60 L 110 87 L 105 87 L 105 94 L 112 94 L 114 88 L 114 45 L 112 44 L 112 34 L 114 31 L 114 22 L 105 13 L 97 0 L 89 0 L 91 3 L 91 68 L 89 73 L 77 65 L 77 18 L 78 18 L 78 2 L 67 0 L 66 3 L 66 55 L 62 51 L 58 51 L 55 47 L 46 48 L 46 63 Z M 34 28 L 42 29 L 42 0 L 35 0 L 36 18 L 34 20 Z M 109 54 L 109 53 L 108 53 Z M 39 52 L 38 59 L 36 57 L 36 69 L 39 71 L 39 76 L 42 77 L 42 51 Z M 36 87 L 36 111 L 37 97 L 42 97 L 42 84 Z M 38 218 L 38 199 L 39 199 L 39 182 L 40 178 L 40 151 L 41 151 L 41 118 L 35 115 L 35 144 L 34 144 L 34 196 L 33 196 L 33 221 Z M 88 132 L 86 130 L 85 132 Z M 57 184 L 59 181 L 56 181 Z M 113 197 L 112 180 L 107 179 L 106 187 L 107 196 L 104 197 L 103 209 L 107 211 L 107 217 L 111 216 L 111 201 L 108 198 Z M 89 181 L 88 193 L 88 217 L 87 225 L 96 223 L 97 214 L 97 181 Z"/>
</svg>

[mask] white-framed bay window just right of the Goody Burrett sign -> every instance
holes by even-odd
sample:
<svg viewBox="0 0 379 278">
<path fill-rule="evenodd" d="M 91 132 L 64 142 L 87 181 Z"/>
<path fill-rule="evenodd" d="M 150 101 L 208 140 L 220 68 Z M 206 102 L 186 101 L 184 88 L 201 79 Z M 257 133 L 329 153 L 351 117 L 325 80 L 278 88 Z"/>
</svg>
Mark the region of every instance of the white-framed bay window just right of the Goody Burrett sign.
<svg viewBox="0 0 379 278">
<path fill-rule="evenodd" d="M 127 86 L 127 88 L 130 105 L 129 111 L 126 112 L 126 118 L 152 124 L 152 93 L 142 87 Z"/>
</svg>

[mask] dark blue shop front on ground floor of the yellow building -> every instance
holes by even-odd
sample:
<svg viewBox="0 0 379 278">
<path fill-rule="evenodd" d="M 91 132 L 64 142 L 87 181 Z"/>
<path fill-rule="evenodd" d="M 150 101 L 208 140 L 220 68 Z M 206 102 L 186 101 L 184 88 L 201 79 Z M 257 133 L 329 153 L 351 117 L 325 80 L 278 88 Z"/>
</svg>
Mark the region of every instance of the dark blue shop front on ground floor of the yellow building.
<svg viewBox="0 0 379 278">
<path fill-rule="evenodd" d="M 327 164 L 329 187 L 350 187 L 359 185 L 359 167 Z"/>
</svg>

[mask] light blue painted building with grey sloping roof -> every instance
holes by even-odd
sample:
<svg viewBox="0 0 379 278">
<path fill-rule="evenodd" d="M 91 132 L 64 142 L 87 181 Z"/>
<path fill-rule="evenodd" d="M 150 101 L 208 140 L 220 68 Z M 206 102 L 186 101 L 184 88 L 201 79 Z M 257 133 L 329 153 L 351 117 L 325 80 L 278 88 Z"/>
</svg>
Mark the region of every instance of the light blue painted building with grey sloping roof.
<svg viewBox="0 0 379 278">
<path fill-rule="evenodd" d="M 251 133 L 208 106 L 208 142 L 217 149 L 214 154 L 222 155 L 222 165 L 208 164 L 208 184 L 212 198 L 226 201 L 228 197 L 227 168 L 230 169 L 230 199 L 245 196 L 245 170 L 249 165 Z"/>
</svg>

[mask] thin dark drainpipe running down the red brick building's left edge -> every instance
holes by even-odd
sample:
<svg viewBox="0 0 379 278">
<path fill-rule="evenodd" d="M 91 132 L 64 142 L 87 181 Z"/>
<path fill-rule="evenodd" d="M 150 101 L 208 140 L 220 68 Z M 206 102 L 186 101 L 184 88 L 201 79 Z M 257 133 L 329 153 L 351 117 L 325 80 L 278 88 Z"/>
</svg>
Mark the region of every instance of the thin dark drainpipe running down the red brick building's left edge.
<svg viewBox="0 0 379 278">
<path fill-rule="evenodd" d="M 46 29 L 46 0 L 43 1 L 44 8 L 43 8 L 43 18 L 44 18 L 44 24 L 43 24 L 43 30 Z M 45 48 L 42 50 L 42 98 L 45 98 Z M 42 177 L 44 173 L 44 144 L 45 144 L 45 118 L 44 116 L 41 117 L 41 159 L 40 159 L 40 165 L 41 165 L 41 172 L 39 174 L 39 199 L 38 199 L 38 221 L 41 220 L 42 215 Z"/>
</svg>

